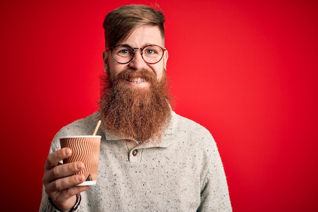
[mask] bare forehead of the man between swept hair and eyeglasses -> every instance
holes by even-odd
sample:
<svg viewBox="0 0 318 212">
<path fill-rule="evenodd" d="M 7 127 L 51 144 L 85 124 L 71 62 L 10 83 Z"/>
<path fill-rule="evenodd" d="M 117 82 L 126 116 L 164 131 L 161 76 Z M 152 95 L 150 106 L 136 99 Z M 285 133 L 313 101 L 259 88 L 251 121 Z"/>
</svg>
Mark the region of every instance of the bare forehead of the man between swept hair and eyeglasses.
<svg viewBox="0 0 318 212">
<path fill-rule="evenodd" d="M 131 34 L 118 44 L 142 47 L 149 44 L 164 46 L 164 38 L 158 26 L 143 25 L 133 29 Z"/>
</svg>

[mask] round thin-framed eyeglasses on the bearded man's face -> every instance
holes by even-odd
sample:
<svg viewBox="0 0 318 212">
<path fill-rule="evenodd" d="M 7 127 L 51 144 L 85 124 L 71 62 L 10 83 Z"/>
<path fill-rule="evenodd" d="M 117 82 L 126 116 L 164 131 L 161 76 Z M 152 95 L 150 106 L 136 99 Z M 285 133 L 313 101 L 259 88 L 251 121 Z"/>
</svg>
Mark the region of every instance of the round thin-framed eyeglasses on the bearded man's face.
<svg viewBox="0 0 318 212">
<path fill-rule="evenodd" d="M 106 50 L 110 50 L 114 60 L 120 64 L 127 64 L 132 61 L 135 55 L 135 49 L 140 49 L 140 54 L 143 60 L 147 64 L 156 64 L 164 56 L 164 52 L 167 50 L 158 45 L 147 45 L 142 48 L 134 48 L 129 45 L 117 45 Z"/>
</svg>

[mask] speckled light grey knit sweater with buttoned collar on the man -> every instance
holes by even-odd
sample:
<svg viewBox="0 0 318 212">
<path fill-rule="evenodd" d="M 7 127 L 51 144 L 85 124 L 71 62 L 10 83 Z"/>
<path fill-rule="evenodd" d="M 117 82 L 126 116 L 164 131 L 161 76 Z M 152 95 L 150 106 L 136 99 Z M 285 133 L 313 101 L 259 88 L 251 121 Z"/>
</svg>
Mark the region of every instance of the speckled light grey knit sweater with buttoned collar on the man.
<svg viewBox="0 0 318 212">
<path fill-rule="evenodd" d="M 98 112 L 63 127 L 59 137 L 91 135 Z M 172 111 L 161 140 L 138 144 L 101 125 L 97 185 L 81 193 L 76 211 L 232 211 L 225 171 L 210 132 Z M 42 194 L 40 211 L 58 211 Z"/>
</svg>

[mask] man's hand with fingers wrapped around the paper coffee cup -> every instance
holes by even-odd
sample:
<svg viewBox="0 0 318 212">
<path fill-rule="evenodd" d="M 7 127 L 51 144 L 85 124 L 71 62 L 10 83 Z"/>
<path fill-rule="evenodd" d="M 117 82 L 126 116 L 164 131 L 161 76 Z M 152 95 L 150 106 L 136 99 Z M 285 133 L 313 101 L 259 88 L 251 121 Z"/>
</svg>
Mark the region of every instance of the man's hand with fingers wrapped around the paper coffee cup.
<svg viewBox="0 0 318 212">
<path fill-rule="evenodd" d="M 76 186 L 85 181 L 83 174 L 75 174 L 84 168 L 82 162 L 59 163 L 59 161 L 71 155 L 72 149 L 61 148 L 47 157 L 44 166 L 42 181 L 45 192 L 51 197 L 54 204 L 62 210 L 72 208 L 76 202 L 76 194 L 89 188 L 89 186 Z"/>
</svg>

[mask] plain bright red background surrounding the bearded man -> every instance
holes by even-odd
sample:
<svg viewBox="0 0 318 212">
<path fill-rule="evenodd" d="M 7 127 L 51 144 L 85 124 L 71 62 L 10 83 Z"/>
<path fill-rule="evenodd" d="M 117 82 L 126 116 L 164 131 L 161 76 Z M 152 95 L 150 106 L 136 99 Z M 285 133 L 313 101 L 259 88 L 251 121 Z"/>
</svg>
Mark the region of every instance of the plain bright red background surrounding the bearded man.
<svg viewBox="0 0 318 212">
<path fill-rule="evenodd" d="M 318 211 L 317 3 L 208 0 L 0 3 L 1 210 L 38 210 L 51 139 L 97 109 L 106 13 L 153 2 L 175 110 L 213 134 L 233 210 Z"/>
</svg>

